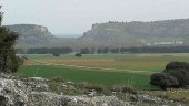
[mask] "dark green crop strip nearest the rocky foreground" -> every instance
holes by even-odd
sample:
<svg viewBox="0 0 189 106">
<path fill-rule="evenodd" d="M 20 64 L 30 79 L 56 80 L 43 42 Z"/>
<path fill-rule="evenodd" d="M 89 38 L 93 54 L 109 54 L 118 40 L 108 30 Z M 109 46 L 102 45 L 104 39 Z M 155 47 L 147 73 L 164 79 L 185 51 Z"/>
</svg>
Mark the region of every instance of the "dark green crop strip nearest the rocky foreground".
<svg viewBox="0 0 189 106">
<path fill-rule="evenodd" d="M 118 84 L 126 84 L 138 89 L 155 88 L 149 85 L 150 76 L 125 72 L 100 72 L 68 68 L 63 66 L 32 65 L 23 66 L 17 73 L 23 74 L 28 77 L 53 78 L 58 76 L 77 83 L 88 82 L 91 84 L 101 84 L 107 87 Z"/>
</svg>

